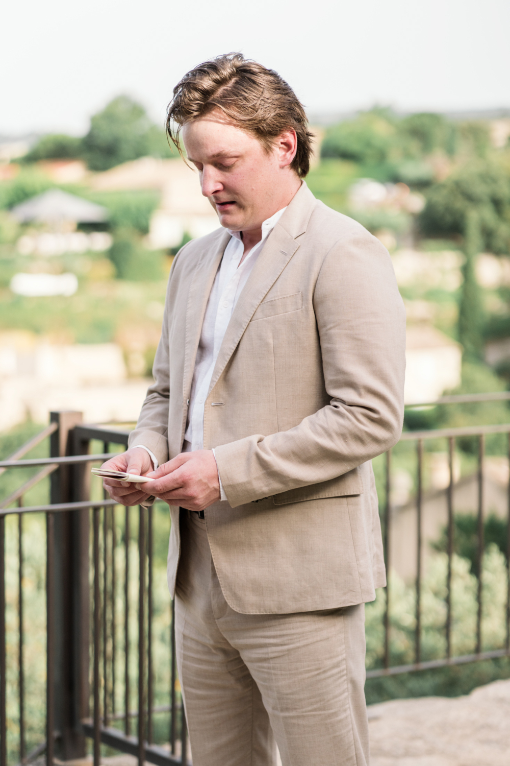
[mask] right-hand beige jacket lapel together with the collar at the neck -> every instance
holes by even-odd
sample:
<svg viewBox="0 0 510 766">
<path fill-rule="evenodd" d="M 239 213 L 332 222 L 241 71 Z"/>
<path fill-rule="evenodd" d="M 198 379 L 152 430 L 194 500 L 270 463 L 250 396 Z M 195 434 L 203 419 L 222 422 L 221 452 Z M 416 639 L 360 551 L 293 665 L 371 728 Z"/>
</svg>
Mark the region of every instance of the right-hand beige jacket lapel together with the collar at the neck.
<svg viewBox="0 0 510 766">
<path fill-rule="evenodd" d="M 306 231 L 316 203 L 316 198 L 303 182 L 280 221 L 271 231 L 230 318 L 216 359 L 209 391 L 213 390 L 226 368 L 255 310 L 299 247 L 296 239 Z"/>
</svg>

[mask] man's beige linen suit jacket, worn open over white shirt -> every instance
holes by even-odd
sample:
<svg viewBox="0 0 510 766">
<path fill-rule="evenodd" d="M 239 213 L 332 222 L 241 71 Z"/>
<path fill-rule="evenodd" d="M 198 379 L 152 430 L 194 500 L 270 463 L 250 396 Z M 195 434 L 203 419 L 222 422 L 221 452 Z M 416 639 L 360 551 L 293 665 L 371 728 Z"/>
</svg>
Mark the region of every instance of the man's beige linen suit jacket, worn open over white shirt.
<svg viewBox="0 0 510 766">
<path fill-rule="evenodd" d="M 154 385 L 129 445 L 182 450 L 224 229 L 185 245 L 168 283 Z M 226 601 L 243 614 L 359 604 L 385 584 L 372 457 L 398 440 L 405 313 L 385 247 L 306 184 L 232 313 L 203 421 L 228 502 L 206 509 Z M 171 507 L 168 584 L 180 555 Z"/>
</svg>

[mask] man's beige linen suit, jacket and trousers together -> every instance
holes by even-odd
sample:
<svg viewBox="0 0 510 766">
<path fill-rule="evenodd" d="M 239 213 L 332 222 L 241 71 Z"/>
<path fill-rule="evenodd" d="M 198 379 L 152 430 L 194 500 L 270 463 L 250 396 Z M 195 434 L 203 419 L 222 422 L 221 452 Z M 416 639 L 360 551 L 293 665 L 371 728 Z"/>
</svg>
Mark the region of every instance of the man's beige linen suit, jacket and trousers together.
<svg viewBox="0 0 510 766">
<path fill-rule="evenodd" d="M 228 241 L 223 229 L 191 241 L 172 266 L 155 382 L 129 440 L 160 463 L 182 450 Z M 284 766 L 368 763 L 363 602 L 385 584 L 370 460 L 401 433 L 404 349 L 387 250 L 303 183 L 239 296 L 206 398 L 204 448 L 228 502 L 203 521 L 171 507 L 196 766 L 274 764 L 272 732 Z"/>
</svg>

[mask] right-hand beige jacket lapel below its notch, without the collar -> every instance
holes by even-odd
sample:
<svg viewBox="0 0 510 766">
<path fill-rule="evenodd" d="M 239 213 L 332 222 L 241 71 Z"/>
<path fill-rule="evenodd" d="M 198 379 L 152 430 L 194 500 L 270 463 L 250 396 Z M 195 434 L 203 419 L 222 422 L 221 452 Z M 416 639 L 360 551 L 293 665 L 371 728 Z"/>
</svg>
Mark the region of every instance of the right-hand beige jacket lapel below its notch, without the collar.
<svg viewBox="0 0 510 766">
<path fill-rule="evenodd" d="M 209 387 L 210 391 L 213 390 L 213 386 L 219 380 L 219 376 L 225 369 L 229 358 L 236 350 L 236 346 L 241 340 L 242 334 L 245 332 L 255 310 L 287 266 L 287 263 L 291 260 L 298 247 L 299 243 L 294 240 L 294 237 L 291 237 L 279 223 L 276 224 L 268 237 L 267 243 L 262 248 L 248 282 L 239 296 L 236 308 L 232 312 L 229 326 L 226 329 L 218 358 L 216 359 Z"/>
</svg>

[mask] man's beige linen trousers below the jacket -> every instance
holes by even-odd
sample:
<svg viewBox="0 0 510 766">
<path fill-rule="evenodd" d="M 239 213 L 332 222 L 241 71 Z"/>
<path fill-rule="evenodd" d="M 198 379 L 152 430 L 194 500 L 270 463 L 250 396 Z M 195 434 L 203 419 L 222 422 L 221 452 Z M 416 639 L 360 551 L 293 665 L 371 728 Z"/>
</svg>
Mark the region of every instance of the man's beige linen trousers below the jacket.
<svg viewBox="0 0 510 766">
<path fill-rule="evenodd" d="M 177 668 L 193 766 L 366 766 L 364 604 L 239 614 L 206 521 L 180 511 Z"/>
</svg>

